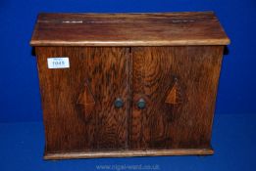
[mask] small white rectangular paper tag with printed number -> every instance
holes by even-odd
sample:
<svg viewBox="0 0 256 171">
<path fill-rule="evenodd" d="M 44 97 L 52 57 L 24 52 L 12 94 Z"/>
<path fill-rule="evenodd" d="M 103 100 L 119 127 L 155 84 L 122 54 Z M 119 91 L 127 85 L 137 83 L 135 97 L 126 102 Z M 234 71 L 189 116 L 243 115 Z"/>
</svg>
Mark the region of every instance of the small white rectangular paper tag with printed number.
<svg viewBox="0 0 256 171">
<path fill-rule="evenodd" d="M 48 58 L 48 68 L 67 68 L 70 67 L 70 60 L 67 57 Z"/>
</svg>

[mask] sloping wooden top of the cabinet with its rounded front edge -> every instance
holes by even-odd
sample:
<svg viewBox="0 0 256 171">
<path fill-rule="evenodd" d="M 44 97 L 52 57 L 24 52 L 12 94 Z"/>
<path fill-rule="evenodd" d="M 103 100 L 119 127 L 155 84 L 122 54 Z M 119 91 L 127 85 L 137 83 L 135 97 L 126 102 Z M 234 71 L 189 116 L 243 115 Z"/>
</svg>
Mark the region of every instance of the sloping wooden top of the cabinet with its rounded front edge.
<svg viewBox="0 0 256 171">
<path fill-rule="evenodd" d="M 228 45 L 213 12 L 40 14 L 31 46 Z"/>
</svg>

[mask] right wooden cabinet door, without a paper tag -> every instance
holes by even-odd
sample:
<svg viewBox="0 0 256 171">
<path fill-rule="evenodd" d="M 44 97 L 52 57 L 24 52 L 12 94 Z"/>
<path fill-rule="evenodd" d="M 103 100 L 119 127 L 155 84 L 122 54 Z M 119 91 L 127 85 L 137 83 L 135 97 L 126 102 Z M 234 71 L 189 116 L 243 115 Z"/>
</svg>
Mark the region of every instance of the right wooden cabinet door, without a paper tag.
<svg viewBox="0 0 256 171">
<path fill-rule="evenodd" d="M 223 46 L 132 48 L 131 150 L 209 149 Z"/>
</svg>

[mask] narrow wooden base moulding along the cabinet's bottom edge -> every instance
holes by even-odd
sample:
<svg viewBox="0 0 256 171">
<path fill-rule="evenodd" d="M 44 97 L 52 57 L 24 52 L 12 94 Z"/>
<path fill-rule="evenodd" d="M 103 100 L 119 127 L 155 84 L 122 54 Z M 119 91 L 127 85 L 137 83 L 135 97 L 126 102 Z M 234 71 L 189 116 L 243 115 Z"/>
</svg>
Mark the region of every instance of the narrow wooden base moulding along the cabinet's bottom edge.
<svg viewBox="0 0 256 171">
<path fill-rule="evenodd" d="M 112 150 L 90 152 L 47 153 L 44 159 L 96 158 L 96 157 L 129 157 L 129 156 L 165 156 L 165 155 L 210 155 L 212 149 L 179 149 L 179 150 Z"/>
</svg>

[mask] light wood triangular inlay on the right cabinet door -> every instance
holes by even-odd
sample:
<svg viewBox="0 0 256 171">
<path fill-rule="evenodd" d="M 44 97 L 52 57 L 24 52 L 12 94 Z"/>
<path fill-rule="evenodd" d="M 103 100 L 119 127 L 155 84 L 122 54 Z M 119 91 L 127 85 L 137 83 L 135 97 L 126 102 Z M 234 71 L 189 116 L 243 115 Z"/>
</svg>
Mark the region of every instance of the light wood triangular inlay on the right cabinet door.
<svg viewBox="0 0 256 171">
<path fill-rule="evenodd" d="M 182 102 L 182 94 L 181 94 L 181 90 L 180 90 L 178 81 L 175 82 L 171 91 L 169 91 L 169 94 L 166 98 L 165 103 L 171 104 L 171 105 L 178 105 L 178 104 L 183 103 Z"/>
</svg>

